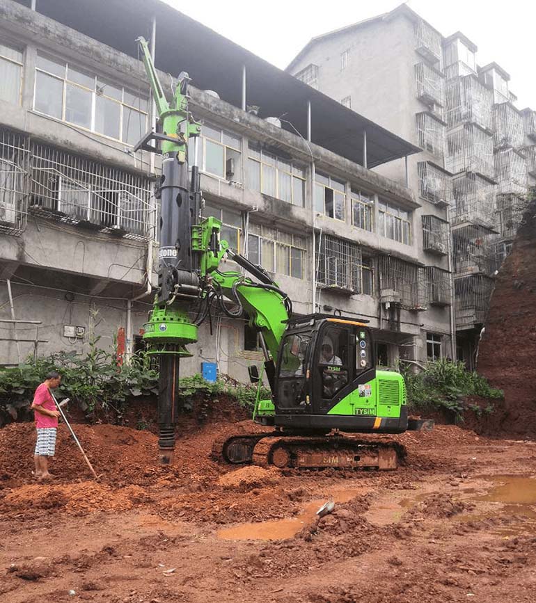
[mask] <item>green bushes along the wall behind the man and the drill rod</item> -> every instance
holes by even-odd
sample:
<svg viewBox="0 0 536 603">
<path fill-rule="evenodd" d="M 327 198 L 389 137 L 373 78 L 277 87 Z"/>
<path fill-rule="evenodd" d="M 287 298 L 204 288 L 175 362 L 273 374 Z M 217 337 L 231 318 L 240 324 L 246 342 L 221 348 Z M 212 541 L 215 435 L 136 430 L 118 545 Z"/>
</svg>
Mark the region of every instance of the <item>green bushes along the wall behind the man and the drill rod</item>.
<svg viewBox="0 0 536 603">
<path fill-rule="evenodd" d="M 29 406 L 36 387 L 45 380 L 49 371 L 59 371 L 60 387 L 54 392 L 57 399 L 70 398 L 86 415 L 95 410 L 108 409 L 120 418 L 129 400 L 137 396 L 153 397 L 158 394 L 158 371 L 152 367 L 150 356 L 139 353 L 129 364 L 118 365 L 116 355 L 97 347 L 98 338 L 90 344 L 84 356 L 73 352 L 59 352 L 30 360 L 15 368 L 0 369 L 0 426 L 10 421 L 29 419 Z M 242 385 L 228 378 L 208 383 L 200 375 L 182 378 L 180 392 L 184 410 L 191 410 L 196 397 L 211 398 L 226 394 L 240 405 L 253 409 L 257 387 Z M 270 396 L 261 388 L 261 396 Z"/>
</svg>

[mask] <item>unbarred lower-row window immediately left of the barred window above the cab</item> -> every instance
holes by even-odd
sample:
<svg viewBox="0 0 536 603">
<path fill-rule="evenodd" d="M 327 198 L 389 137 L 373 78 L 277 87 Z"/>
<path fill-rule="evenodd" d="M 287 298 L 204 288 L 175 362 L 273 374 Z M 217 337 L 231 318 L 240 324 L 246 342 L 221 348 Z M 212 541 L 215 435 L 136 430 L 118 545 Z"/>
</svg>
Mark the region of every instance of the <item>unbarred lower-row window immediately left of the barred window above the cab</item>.
<svg viewBox="0 0 536 603">
<path fill-rule="evenodd" d="M 296 234 L 250 225 L 248 259 L 269 272 L 305 278 L 306 241 Z"/>
</svg>

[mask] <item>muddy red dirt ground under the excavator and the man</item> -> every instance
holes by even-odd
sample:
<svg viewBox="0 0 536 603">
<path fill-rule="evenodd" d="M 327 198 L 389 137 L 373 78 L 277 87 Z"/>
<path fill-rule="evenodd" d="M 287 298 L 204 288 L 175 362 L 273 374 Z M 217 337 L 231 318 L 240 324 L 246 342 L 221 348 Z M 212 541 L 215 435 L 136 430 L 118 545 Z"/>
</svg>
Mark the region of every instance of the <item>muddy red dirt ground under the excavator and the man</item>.
<svg viewBox="0 0 536 603">
<path fill-rule="evenodd" d="M 63 426 L 57 479 L 47 485 L 31 475 L 33 426 L 0 431 L 1 601 L 535 600 L 533 442 L 437 426 L 397 437 L 408 455 L 396 472 L 298 473 L 210 460 L 214 438 L 252 428 L 249 421 L 213 416 L 192 427 L 178 440 L 173 467 L 157 465 L 152 433 L 74 428 L 99 481 Z M 330 497 L 346 502 L 315 520 Z M 310 501 L 313 513 L 300 515 Z M 260 523 L 272 520 L 285 522 Z M 294 522 L 297 533 L 221 537 L 244 522 L 276 534 Z"/>
</svg>

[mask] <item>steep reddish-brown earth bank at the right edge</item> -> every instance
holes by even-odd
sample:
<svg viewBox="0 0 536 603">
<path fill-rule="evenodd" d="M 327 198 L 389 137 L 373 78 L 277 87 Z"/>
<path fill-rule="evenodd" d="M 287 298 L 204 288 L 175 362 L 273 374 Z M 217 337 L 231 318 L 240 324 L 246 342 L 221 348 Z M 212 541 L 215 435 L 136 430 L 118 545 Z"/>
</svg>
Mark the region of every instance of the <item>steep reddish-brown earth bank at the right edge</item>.
<svg viewBox="0 0 536 603">
<path fill-rule="evenodd" d="M 497 275 L 477 369 L 505 393 L 501 427 L 536 435 L 536 198 Z"/>
</svg>

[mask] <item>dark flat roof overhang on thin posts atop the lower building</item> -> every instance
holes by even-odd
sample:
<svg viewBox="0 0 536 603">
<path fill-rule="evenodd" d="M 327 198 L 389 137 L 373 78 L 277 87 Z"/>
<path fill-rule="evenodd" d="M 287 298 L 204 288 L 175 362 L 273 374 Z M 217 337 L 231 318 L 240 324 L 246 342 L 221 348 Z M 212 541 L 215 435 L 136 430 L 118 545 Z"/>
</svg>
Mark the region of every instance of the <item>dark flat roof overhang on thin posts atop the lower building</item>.
<svg viewBox="0 0 536 603">
<path fill-rule="evenodd" d="M 310 104 L 311 141 L 363 165 L 366 132 L 368 168 L 421 151 L 161 0 L 107 0 L 84 13 L 72 0 L 47 0 L 38 3 L 38 12 L 134 57 L 135 39 L 150 37 L 155 17 L 159 70 L 175 76 L 187 71 L 194 86 L 240 107 L 246 67 L 247 103 L 260 107 L 261 118 L 281 118 L 284 129 L 307 138 Z"/>
</svg>

